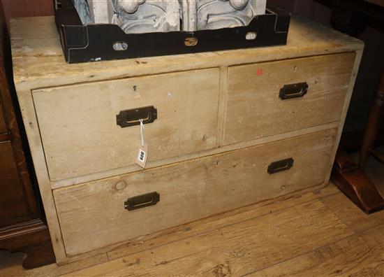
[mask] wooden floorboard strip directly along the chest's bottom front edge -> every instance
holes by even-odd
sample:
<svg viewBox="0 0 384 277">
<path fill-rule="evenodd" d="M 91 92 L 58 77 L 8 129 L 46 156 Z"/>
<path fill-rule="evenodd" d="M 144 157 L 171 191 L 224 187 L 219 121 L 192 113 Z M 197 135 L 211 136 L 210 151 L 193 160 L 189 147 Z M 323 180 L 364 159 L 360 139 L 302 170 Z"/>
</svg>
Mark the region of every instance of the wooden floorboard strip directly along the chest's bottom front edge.
<svg viewBox="0 0 384 277">
<path fill-rule="evenodd" d="M 337 190 L 336 187 L 328 185 L 323 187 L 321 190 L 309 189 L 302 192 L 288 194 L 284 197 L 279 197 L 278 199 L 272 199 L 271 201 L 246 206 L 244 208 L 239 208 L 236 211 L 230 211 L 211 218 L 191 222 L 187 225 L 168 229 L 164 232 L 158 232 L 149 236 L 140 237 L 129 243 L 124 243 L 119 247 L 111 248 L 108 255 L 110 260 L 115 260 L 118 257 L 140 253 L 151 248 L 171 244 L 175 241 L 192 236 L 206 234 L 212 232 L 214 229 L 219 229 L 220 227 L 244 221 L 244 218 L 258 218 L 263 215 L 283 211 L 286 208 L 309 203 L 313 200 L 320 199 L 321 197 L 337 193 L 339 193 L 339 190 Z M 51 264 L 47 267 L 41 267 L 39 269 L 24 270 L 20 265 L 22 257 L 23 255 L 21 253 L 9 255 L 9 253 L 0 251 L 0 276 L 59 276 L 90 267 L 94 264 L 100 264 L 108 261 L 107 255 L 102 254 L 71 264 L 66 264 L 64 266 Z"/>
</svg>

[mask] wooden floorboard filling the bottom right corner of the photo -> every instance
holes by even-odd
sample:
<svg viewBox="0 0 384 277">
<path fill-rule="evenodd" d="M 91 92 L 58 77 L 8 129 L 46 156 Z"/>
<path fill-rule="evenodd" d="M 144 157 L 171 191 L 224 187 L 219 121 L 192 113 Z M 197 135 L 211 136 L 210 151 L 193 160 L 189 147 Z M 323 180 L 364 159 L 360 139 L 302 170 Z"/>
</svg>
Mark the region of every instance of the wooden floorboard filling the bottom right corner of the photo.
<svg viewBox="0 0 384 277">
<path fill-rule="evenodd" d="M 248 276 L 384 276 L 384 225 Z"/>
</svg>

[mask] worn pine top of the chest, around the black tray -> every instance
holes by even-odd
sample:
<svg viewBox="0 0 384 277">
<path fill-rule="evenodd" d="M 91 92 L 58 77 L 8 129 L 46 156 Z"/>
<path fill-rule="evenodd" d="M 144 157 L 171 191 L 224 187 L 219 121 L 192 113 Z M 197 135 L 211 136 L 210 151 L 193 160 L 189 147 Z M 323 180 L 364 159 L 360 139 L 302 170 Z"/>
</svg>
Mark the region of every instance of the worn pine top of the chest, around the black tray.
<svg viewBox="0 0 384 277">
<path fill-rule="evenodd" d="M 10 29 L 13 72 L 19 93 L 40 87 L 324 55 L 364 47 L 356 38 L 293 17 L 288 43 L 283 46 L 67 64 L 54 17 L 15 18 Z"/>
</svg>

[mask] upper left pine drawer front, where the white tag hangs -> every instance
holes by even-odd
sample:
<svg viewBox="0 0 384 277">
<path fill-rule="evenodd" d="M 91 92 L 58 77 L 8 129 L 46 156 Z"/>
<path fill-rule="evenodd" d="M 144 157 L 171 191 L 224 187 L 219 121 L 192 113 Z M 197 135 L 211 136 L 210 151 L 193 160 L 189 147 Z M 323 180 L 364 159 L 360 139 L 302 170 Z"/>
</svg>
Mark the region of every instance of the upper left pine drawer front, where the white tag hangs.
<svg viewBox="0 0 384 277">
<path fill-rule="evenodd" d="M 117 125 L 121 111 L 156 108 L 157 119 L 144 125 L 148 162 L 216 145 L 219 69 L 57 87 L 33 95 L 51 180 L 135 164 L 140 126 Z"/>
</svg>

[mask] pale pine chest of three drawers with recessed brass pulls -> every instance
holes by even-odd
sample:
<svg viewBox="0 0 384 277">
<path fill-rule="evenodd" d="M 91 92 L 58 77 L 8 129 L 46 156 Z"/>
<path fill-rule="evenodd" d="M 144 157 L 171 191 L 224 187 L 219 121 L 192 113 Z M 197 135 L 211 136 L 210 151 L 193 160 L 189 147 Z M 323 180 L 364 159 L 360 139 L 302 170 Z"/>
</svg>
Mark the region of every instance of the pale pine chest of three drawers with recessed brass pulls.
<svg viewBox="0 0 384 277">
<path fill-rule="evenodd" d="M 286 46 L 87 64 L 66 64 L 53 17 L 11 35 L 60 263 L 326 185 L 363 50 L 295 17 Z"/>
</svg>

